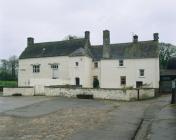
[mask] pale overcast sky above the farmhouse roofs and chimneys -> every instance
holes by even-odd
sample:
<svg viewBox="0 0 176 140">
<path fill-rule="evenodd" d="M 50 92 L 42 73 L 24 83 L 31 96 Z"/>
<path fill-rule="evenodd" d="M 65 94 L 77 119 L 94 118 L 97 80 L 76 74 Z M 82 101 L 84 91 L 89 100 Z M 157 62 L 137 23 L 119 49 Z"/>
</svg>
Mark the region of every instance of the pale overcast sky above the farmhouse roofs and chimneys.
<svg viewBox="0 0 176 140">
<path fill-rule="evenodd" d="M 27 37 L 35 42 L 59 41 L 67 35 L 84 36 L 102 44 L 103 30 L 111 43 L 152 40 L 176 45 L 175 0 L 0 0 L 0 59 L 19 56 Z"/>
</svg>

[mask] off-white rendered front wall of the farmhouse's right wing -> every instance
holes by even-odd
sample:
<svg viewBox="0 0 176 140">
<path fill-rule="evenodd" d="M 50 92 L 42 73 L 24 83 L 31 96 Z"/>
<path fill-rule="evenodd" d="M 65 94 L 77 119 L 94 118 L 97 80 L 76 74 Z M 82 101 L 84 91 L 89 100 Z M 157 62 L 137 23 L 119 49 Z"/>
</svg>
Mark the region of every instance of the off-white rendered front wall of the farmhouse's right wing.
<svg viewBox="0 0 176 140">
<path fill-rule="evenodd" d="M 144 77 L 139 69 L 145 70 Z M 121 88 L 120 76 L 126 76 L 126 86 L 136 88 L 136 81 L 148 84 L 148 88 L 159 88 L 159 59 L 124 59 L 124 66 L 118 60 L 101 60 L 101 88 Z"/>
</svg>

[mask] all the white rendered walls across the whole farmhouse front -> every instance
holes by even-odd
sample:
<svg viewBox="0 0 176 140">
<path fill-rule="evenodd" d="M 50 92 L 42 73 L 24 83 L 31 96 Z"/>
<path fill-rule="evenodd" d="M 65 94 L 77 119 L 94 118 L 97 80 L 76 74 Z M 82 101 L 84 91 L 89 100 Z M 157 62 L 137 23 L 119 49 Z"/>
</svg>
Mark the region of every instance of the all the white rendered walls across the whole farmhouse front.
<svg viewBox="0 0 176 140">
<path fill-rule="evenodd" d="M 78 62 L 78 66 L 76 66 Z M 52 79 L 50 64 L 58 64 L 58 79 Z M 33 66 L 40 65 L 40 72 L 33 73 Z M 144 77 L 139 76 L 139 69 L 144 69 Z M 19 60 L 19 86 L 75 85 L 75 78 L 80 78 L 80 85 L 93 87 L 93 76 L 98 76 L 100 88 L 121 88 L 120 76 L 126 76 L 126 87 L 136 87 L 136 81 L 142 81 L 147 87 L 159 87 L 159 58 L 124 59 L 124 66 L 119 60 L 98 61 L 94 68 L 92 58 L 79 57 L 44 57 Z"/>
</svg>

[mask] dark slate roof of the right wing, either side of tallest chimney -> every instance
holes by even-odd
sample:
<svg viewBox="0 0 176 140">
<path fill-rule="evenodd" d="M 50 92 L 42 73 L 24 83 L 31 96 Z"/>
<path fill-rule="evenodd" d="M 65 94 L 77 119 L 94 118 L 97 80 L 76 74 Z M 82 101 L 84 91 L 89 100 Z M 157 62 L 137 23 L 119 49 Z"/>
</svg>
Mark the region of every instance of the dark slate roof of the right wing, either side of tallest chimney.
<svg viewBox="0 0 176 140">
<path fill-rule="evenodd" d="M 139 59 L 139 58 L 158 58 L 158 42 L 140 41 L 138 43 L 119 43 L 110 44 L 110 59 Z M 91 52 L 94 59 L 99 60 L 103 55 L 103 45 L 92 46 Z"/>
</svg>

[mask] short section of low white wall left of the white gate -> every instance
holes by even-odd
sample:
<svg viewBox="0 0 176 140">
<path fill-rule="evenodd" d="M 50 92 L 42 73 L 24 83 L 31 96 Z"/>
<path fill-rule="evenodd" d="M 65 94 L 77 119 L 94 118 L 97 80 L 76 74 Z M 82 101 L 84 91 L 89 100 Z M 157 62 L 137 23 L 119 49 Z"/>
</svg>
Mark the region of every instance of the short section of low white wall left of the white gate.
<svg viewBox="0 0 176 140">
<path fill-rule="evenodd" d="M 24 88 L 3 88 L 3 95 L 4 96 L 12 96 L 14 94 L 21 94 L 23 96 L 33 96 L 34 95 L 34 88 L 24 87 Z"/>
</svg>

